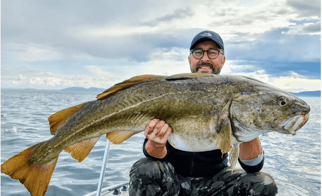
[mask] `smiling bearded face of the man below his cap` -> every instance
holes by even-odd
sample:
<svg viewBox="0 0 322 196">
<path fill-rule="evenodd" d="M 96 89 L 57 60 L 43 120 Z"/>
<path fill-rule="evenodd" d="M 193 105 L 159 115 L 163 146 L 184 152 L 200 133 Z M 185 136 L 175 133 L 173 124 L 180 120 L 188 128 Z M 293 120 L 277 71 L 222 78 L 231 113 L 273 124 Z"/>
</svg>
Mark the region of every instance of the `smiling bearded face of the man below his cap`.
<svg viewBox="0 0 322 196">
<path fill-rule="evenodd" d="M 199 43 L 194 49 L 210 50 L 220 48 L 213 41 L 205 41 Z M 190 69 L 192 73 L 208 73 L 208 74 L 219 74 L 223 64 L 225 63 L 226 57 L 222 53 L 219 53 L 218 57 L 215 59 L 210 59 L 206 52 L 204 53 L 203 58 L 196 59 L 191 54 L 188 57 L 190 64 Z"/>
</svg>

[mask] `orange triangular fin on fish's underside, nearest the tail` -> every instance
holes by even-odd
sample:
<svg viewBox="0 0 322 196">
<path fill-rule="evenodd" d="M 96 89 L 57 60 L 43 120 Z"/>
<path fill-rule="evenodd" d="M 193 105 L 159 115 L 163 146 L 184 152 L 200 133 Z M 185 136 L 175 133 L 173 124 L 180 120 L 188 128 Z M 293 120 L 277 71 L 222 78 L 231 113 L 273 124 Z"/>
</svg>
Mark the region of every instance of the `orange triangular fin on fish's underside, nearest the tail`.
<svg viewBox="0 0 322 196">
<path fill-rule="evenodd" d="M 88 154 L 90 154 L 90 151 L 93 149 L 99 138 L 100 137 L 81 141 L 65 148 L 64 150 L 67 153 L 71 153 L 71 157 L 79 162 L 82 162 L 88 156 Z"/>
</svg>

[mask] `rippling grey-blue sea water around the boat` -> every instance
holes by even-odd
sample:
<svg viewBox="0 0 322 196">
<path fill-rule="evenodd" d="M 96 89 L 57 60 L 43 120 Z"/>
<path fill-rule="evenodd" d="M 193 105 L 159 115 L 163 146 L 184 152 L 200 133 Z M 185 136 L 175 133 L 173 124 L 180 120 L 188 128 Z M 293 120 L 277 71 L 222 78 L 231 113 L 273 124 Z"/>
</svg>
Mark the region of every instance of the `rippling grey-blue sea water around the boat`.
<svg viewBox="0 0 322 196">
<path fill-rule="evenodd" d="M 97 93 L 1 90 L 1 164 L 27 147 L 52 137 L 47 118 L 67 107 L 94 100 Z M 306 125 L 296 136 L 268 133 L 260 136 L 265 150 L 262 171 L 271 174 L 279 196 L 321 195 L 321 99 L 301 97 L 311 107 Z M 143 133 L 111 145 L 103 187 L 125 182 L 141 157 Z M 46 196 L 81 196 L 97 189 L 106 138 L 79 163 L 62 152 Z M 241 168 L 238 164 L 237 168 Z M 18 180 L 1 173 L 1 195 L 30 195 Z"/>
</svg>

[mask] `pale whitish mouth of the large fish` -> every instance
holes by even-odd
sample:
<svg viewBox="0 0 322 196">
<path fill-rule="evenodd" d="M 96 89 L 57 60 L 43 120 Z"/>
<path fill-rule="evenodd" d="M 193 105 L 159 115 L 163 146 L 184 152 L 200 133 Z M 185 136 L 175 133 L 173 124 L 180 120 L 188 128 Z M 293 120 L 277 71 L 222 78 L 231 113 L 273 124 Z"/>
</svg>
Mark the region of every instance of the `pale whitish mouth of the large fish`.
<svg viewBox="0 0 322 196">
<path fill-rule="evenodd" d="M 308 121 L 309 113 L 292 117 L 284 126 L 284 133 L 296 135 L 296 131 Z"/>
</svg>

